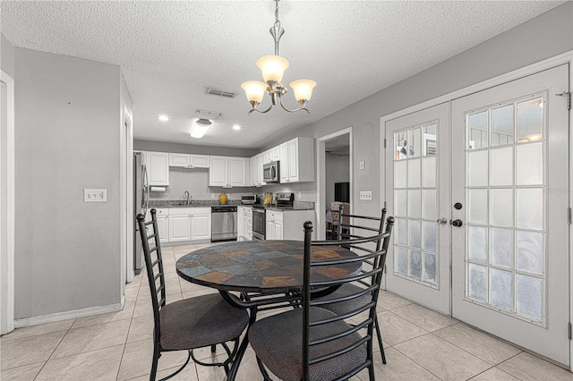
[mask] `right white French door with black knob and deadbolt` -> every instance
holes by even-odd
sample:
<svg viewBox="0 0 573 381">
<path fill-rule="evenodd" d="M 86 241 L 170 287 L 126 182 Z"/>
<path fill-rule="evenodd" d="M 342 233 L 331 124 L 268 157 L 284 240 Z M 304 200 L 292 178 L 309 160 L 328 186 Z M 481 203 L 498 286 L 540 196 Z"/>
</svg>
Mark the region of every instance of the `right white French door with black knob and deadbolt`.
<svg viewBox="0 0 573 381">
<path fill-rule="evenodd" d="M 569 365 L 563 91 L 568 65 L 452 102 L 452 316 Z"/>
</svg>

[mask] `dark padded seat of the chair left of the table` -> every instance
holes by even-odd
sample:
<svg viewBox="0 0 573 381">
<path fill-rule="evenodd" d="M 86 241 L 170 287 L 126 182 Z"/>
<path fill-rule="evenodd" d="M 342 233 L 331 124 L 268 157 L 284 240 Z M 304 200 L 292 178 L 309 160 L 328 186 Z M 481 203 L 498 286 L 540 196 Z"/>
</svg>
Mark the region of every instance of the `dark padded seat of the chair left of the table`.
<svg viewBox="0 0 573 381">
<path fill-rule="evenodd" d="M 218 293 L 175 301 L 159 311 L 165 351 L 180 351 L 225 343 L 239 337 L 249 323 L 245 309 L 237 309 Z"/>
</svg>

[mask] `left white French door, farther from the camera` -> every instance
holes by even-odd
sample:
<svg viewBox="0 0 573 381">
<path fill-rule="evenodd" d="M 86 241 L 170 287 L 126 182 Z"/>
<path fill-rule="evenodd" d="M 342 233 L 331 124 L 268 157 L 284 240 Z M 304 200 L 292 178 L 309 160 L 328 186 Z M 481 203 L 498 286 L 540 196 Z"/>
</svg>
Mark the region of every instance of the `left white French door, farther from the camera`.
<svg viewBox="0 0 573 381">
<path fill-rule="evenodd" d="M 386 207 L 395 216 L 386 289 L 450 313 L 449 104 L 385 125 Z"/>
</svg>

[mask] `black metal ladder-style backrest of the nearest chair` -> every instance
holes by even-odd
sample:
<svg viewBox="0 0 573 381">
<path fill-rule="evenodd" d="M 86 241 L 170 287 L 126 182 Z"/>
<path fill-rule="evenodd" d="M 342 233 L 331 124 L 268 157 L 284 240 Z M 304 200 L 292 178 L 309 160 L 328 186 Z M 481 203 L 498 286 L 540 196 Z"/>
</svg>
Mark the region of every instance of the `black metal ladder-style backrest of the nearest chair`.
<svg viewBox="0 0 573 381">
<path fill-rule="evenodd" d="M 312 223 L 307 221 L 304 223 L 304 278 L 303 278 L 303 379 L 308 379 L 309 367 L 311 363 L 330 360 L 338 357 L 349 351 L 354 351 L 359 346 L 367 345 L 370 357 L 372 353 L 372 332 L 373 322 L 376 314 L 376 304 L 378 301 L 378 294 L 380 292 L 380 284 L 382 279 L 383 267 L 386 261 L 386 253 L 389 247 L 390 235 L 392 226 L 394 225 L 394 218 L 388 217 L 386 229 L 382 233 L 383 216 L 386 210 L 382 209 L 381 222 L 378 229 L 374 229 L 374 234 L 364 236 L 362 238 L 349 238 L 340 241 L 311 241 L 312 240 Z M 355 216 L 358 217 L 358 216 Z M 378 217 L 366 217 L 365 219 L 373 218 L 377 221 Z M 370 231 L 370 229 L 366 229 Z M 312 246 L 334 246 L 338 245 L 342 248 L 349 248 L 355 252 L 354 258 L 329 260 L 328 258 L 321 258 L 319 261 L 312 261 Z M 370 247 L 367 247 L 370 246 Z M 372 249 L 373 248 L 373 249 Z M 321 280 L 311 281 L 311 271 L 320 272 L 321 268 L 324 271 L 329 271 L 332 267 L 346 267 L 346 269 L 353 269 L 354 272 L 348 271 L 348 274 L 337 280 Z M 354 284 L 359 287 L 352 288 L 351 293 L 346 293 L 342 297 L 324 297 L 321 299 L 311 300 L 311 290 L 324 288 L 324 287 L 340 287 L 344 284 Z M 347 301 L 356 301 L 356 308 L 343 315 L 338 315 L 336 318 L 326 318 L 323 320 L 313 320 L 310 323 L 310 309 L 311 307 L 320 307 L 321 305 L 332 305 L 335 303 L 346 303 Z M 360 316 L 363 311 L 369 311 L 367 317 Z M 320 329 L 320 326 L 331 324 L 333 321 L 341 321 L 346 318 L 353 318 L 356 326 L 347 329 L 345 332 L 338 334 L 330 334 L 324 336 L 320 331 L 312 329 Z M 365 331 L 365 332 L 364 332 Z M 358 333 L 356 335 L 355 333 Z M 312 336 L 312 340 L 310 337 Z M 326 343 L 334 341 L 341 341 L 344 346 L 338 350 L 329 353 L 321 353 L 319 359 L 310 360 L 310 348 L 312 345 L 319 343 Z M 350 342 L 349 342 L 350 341 Z M 342 345 L 342 344 L 341 344 Z M 336 345 L 335 345 L 336 347 Z M 363 364 L 357 366 L 355 371 L 347 374 L 347 377 L 354 375 L 361 369 L 368 367 L 372 363 L 372 359 L 368 358 Z M 340 378 L 346 378 L 341 376 Z"/>
</svg>

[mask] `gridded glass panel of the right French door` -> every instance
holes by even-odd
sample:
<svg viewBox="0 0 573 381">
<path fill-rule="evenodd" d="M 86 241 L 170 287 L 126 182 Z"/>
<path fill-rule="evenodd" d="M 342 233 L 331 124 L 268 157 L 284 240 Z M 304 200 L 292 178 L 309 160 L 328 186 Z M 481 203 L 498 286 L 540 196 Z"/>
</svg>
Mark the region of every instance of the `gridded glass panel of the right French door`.
<svg viewBox="0 0 573 381">
<path fill-rule="evenodd" d="M 466 114 L 466 298 L 542 324 L 543 103 Z"/>
</svg>

